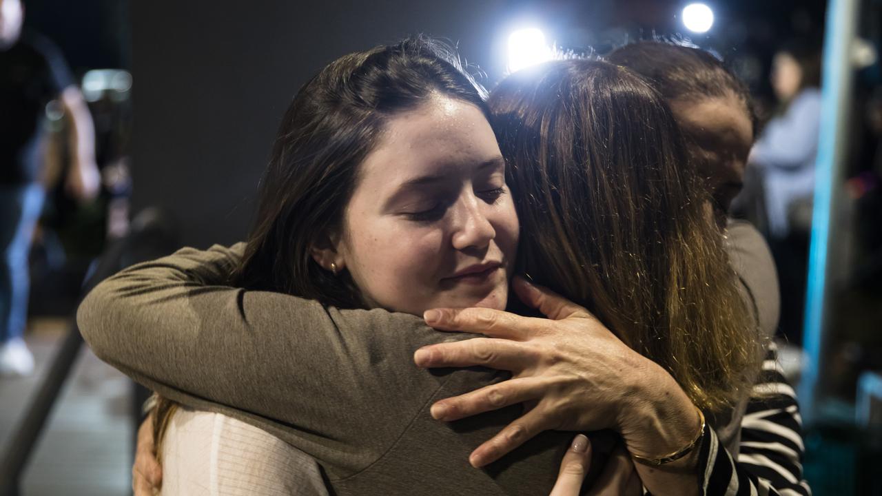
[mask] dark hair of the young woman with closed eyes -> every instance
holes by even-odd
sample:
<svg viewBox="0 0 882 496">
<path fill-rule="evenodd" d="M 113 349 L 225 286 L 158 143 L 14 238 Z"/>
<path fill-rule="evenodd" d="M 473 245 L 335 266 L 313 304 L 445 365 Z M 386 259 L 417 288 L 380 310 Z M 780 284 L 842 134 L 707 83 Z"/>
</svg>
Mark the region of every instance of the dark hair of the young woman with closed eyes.
<svg viewBox="0 0 882 496">
<path fill-rule="evenodd" d="M 310 246 L 344 234 L 343 216 L 359 165 L 385 123 L 433 94 L 473 103 L 487 113 L 484 90 L 452 50 L 423 37 L 342 56 L 306 83 L 282 118 L 238 282 L 326 304 L 361 306 L 348 275 L 319 267 Z"/>
</svg>

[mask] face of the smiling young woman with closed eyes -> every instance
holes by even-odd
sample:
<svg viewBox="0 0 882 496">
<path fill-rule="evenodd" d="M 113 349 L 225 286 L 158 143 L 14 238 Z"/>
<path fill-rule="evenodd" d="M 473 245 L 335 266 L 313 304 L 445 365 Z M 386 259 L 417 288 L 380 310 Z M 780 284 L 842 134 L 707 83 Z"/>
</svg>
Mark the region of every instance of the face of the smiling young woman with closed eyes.
<svg viewBox="0 0 882 496">
<path fill-rule="evenodd" d="M 518 232 L 487 119 L 433 95 L 392 117 L 361 164 L 336 265 L 371 307 L 504 309 Z"/>
</svg>

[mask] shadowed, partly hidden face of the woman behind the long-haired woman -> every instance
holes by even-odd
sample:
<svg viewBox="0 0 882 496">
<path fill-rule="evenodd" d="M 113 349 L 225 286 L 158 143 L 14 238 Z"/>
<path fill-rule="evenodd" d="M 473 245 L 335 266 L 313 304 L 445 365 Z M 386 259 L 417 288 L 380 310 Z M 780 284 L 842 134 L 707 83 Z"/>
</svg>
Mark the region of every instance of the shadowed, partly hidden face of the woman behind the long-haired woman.
<svg viewBox="0 0 882 496">
<path fill-rule="evenodd" d="M 732 199 L 744 187 L 744 167 L 753 144 L 753 124 L 736 94 L 671 102 L 699 176 L 711 192 L 714 219 L 725 227 Z"/>
</svg>

